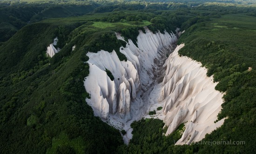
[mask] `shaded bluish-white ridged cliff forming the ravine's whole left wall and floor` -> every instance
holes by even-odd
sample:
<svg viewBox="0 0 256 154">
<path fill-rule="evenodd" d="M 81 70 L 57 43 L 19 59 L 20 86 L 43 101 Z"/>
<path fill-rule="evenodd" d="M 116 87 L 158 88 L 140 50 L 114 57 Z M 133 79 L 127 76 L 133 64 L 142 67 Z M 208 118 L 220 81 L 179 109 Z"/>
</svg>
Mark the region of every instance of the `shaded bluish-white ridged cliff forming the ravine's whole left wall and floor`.
<svg viewBox="0 0 256 154">
<path fill-rule="evenodd" d="M 118 129 L 125 129 L 125 142 L 131 139 L 130 123 L 148 114 L 149 104 L 143 100 L 158 77 L 167 54 L 175 48 L 176 36 L 165 32 L 153 34 L 147 28 L 140 31 L 138 47 L 129 39 L 120 51 L 128 60 L 120 61 L 116 52 L 88 52 L 90 74 L 84 85 L 91 99 L 87 99 L 94 114 Z M 120 34 L 118 39 L 124 40 Z M 111 81 L 105 70 L 115 77 Z M 114 88 L 113 88 L 114 87 Z M 152 88 L 151 88 L 152 90 Z M 146 97 L 148 98 L 148 96 Z"/>
</svg>

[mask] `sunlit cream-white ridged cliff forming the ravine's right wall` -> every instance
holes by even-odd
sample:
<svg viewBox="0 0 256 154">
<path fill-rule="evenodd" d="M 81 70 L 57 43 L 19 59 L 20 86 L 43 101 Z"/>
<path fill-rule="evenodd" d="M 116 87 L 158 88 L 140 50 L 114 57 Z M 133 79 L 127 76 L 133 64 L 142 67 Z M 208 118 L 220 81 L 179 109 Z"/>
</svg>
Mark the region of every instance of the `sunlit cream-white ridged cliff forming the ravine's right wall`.
<svg viewBox="0 0 256 154">
<path fill-rule="evenodd" d="M 206 76 L 207 70 L 201 63 L 178 55 L 183 46 L 178 45 L 169 55 L 163 81 L 154 89 L 160 91 L 156 102 L 163 107 L 164 116 L 160 119 L 168 127 L 166 135 L 185 122 L 186 129 L 176 144 L 200 141 L 224 122 L 222 119 L 214 123 L 223 103 L 222 93 L 215 90 L 217 83 L 212 82 L 213 77 Z"/>
</svg>

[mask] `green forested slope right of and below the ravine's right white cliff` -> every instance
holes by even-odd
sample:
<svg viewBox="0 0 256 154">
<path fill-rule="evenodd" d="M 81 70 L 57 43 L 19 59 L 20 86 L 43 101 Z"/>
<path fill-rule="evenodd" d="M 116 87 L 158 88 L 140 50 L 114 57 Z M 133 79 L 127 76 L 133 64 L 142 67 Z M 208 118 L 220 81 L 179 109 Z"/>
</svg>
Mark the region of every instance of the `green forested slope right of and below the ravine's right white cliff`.
<svg viewBox="0 0 256 154">
<path fill-rule="evenodd" d="M 163 125 L 162 127 L 158 125 L 158 120 L 152 120 L 151 123 L 148 123 L 148 119 L 141 120 L 132 125 L 134 136 L 129 145 L 121 146 L 119 150 L 152 154 L 254 154 L 256 150 L 254 146 L 256 143 L 256 71 L 254 70 L 256 46 L 253 43 L 253 38 L 256 38 L 255 23 L 255 17 L 228 14 L 209 21 L 195 22 L 179 39 L 179 43 L 185 43 L 179 53 L 201 61 L 209 69 L 208 76 L 214 75 L 214 81 L 219 82 L 216 90 L 226 92 L 218 120 L 225 117 L 227 119 L 220 128 L 206 135 L 204 142 L 193 143 L 190 146 L 173 146 L 179 139 L 177 131 L 165 137 L 160 135 L 164 130 L 162 130 Z M 157 129 L 159 136 L 156 133 Z M 207 141 L 243 142 L 232 145 L 211 145 L 206 144 Z"/>
</svg>

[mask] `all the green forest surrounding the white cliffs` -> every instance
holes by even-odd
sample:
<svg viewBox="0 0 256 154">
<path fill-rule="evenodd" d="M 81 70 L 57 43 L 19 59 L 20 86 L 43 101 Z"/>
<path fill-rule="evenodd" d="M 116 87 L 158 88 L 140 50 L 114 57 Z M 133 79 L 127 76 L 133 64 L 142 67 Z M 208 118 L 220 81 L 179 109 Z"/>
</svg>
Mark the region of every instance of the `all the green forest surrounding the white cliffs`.
<svg viewBox="0 0 256 154">
<path fill-rule="evenodd" d="M 0 153 L 254 154 L 255 10 L 252 0 L 1 0 Z M 85 101 L 86 53 L 115 50 L 127 60 L 119 51 L 126 42 L 115 32 L 136 45 L 144 26 L 185 30 L 179 54 L 201 62 L 218 82 L 215 89 L 224 92 L 218 120 L 225 122 L 203 141 L 245 144 L 175 145 L 184 124 L 164 136 L 161 120 L 142 118 L 131 124 L 126 145 L 125 131 L 94 116 Z M 61 51 L 50 58 L 46 50 L 55 37 Z"/>
</svg>

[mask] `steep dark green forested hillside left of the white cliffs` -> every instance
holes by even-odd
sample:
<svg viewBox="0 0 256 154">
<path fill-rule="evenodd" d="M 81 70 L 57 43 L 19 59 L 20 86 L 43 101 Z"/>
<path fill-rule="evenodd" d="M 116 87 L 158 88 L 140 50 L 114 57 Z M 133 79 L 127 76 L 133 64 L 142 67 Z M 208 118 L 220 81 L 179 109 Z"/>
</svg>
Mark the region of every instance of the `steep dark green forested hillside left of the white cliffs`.
<svg viewBox="0 0 256 154">
<path fill-rule="evenodd" d="M 119 131 L 94 117 L 85 103 L 83 80 L 89 72 L 86 51 L 77 42 L 81 38 L 69 40 L 54 58 L 46 57 L 56 35 L 66 41 L 61 35 L 81 25 L 72 24 L 25 26 L 1 46 L 2 153 L 94 153 L 95 147 L 109 153 L 122 144 Z M 77 50 L 71 52 L 74 43 Z"/>
</svg>

